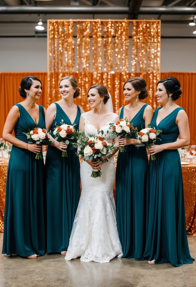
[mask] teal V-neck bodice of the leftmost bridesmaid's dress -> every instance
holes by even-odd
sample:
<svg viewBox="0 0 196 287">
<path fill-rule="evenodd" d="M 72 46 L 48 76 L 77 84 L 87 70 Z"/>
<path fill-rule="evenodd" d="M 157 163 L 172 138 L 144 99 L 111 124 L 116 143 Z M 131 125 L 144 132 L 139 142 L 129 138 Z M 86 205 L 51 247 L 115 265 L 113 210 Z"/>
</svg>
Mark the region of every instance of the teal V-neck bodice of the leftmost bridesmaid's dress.
<svg viewBox="0 0 196 287">
<path fill-rule="evenodd" d="M 33 118 L 21 104 L 16 104 L 15 106 L 19 108 L 20 117 L 14 127 L 14 133 L 17 139 L 27 143 L 29 140 L 27 139 L 26 135 L 23 134 L 23 132 L 26 132 L 28 129 L 32 130 L 34 127 L 46 127 L 44 108 L 43 106 L 39 105 L 39 121 L 36 125 Z"/>
</svg>

